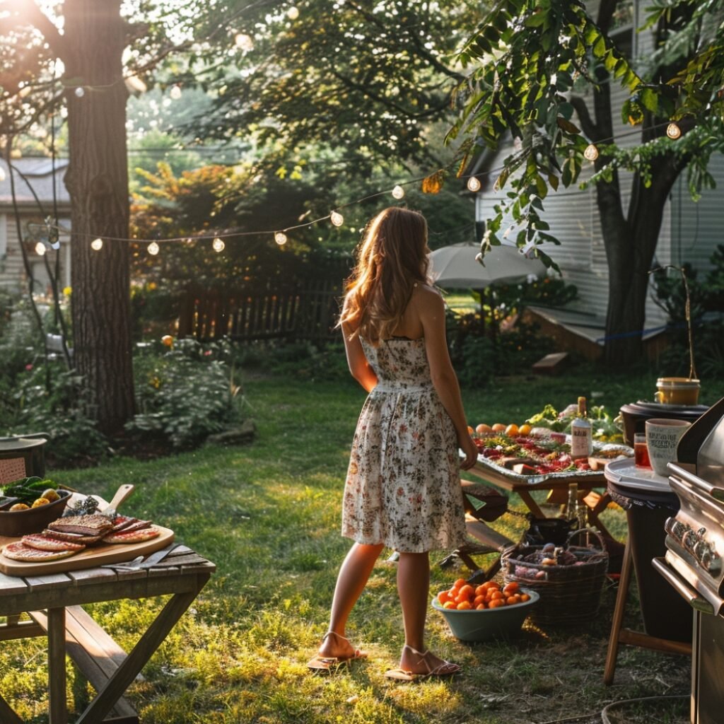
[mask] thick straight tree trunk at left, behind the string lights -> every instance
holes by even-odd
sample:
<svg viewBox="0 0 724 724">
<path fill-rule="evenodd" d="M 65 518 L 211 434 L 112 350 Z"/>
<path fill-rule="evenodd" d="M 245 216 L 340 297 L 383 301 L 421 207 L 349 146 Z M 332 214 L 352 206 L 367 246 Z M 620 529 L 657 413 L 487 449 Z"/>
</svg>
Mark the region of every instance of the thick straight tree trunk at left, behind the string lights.
<svg viewBox="0 0 724 724">
<path fill-rule="evenodd" d="M 127 92 L 121 0 L 66 0 L 72 201 L 71 283 L 77 371 L 90 416 L 114 434 L 134 412 L 130 337 Z M 83 88 L 81 93 L 77 88 Z M 94 238 L 104 239 L 93 251 Z M 117 239 L 117 240 L 114 240 Z"/>
</svg>

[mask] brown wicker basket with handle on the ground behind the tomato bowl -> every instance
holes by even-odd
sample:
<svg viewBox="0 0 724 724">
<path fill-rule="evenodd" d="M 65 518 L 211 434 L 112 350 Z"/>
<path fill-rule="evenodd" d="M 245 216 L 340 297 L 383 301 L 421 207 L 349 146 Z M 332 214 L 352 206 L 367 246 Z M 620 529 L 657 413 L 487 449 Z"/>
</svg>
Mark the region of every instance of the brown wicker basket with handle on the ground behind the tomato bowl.
<svg viewBox="0 0 724 724">
<path fill-rule="evenodd" d="M 599 547 L 574 546 L 579 536 L 594 536 Z M 573 531 L 565 551 L 576 557 L 573 565 L 542 565 L 542 546 L 518 545 L 501 556 L 505 583 L 517 581 L 540 594 L 531 609 L 531 619 L 541 626 L 571 626 L 586 623 L 597 613 L 608 570 L 608 554 L 598 531 Z"/>
</svg>

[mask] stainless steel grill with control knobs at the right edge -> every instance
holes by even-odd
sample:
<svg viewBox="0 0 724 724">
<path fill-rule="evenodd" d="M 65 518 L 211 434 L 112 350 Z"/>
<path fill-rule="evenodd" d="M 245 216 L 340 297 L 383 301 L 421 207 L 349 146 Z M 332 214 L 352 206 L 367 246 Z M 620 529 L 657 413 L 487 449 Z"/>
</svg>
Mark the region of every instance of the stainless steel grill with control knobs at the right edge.
<svg viewBox="0 0 724 724">
<path fill-rule="evenodd" d="M 703 441 L 703 442 L 702 442 Z M 698 450 L 694 446 L 698 445 Z M 694 455 L 696 455 L 695 461 Z M 724 721 L 724 400 L 681 439 L 669 483 L 678 513 L 654 568 L 694 609 L 691 723 Z"/>
</svg>

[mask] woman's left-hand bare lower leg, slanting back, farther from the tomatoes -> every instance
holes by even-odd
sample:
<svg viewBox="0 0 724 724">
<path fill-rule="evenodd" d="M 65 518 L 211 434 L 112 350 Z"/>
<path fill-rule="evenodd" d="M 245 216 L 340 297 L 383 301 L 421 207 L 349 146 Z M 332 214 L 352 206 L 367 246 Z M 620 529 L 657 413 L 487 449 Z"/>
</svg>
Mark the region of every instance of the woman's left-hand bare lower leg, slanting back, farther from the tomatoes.
<svg viewBox="0 0 724 724">
<path fill-rule="evenodd" d="M 354 653 L 354 647 L 343 639 L 347 619 L 357 599 L 367 584 L 375 561 L 382 552 L 384 545 L 366 545 L 355 543 L 345 557 L 340 573 L 337 575 L 337 586 L 334 587 L 332 612 L 329 615 L 329 631 L 337 636 L 327 636 L 319 647 L 322 656 L 348 656 Z"/>
</svg>

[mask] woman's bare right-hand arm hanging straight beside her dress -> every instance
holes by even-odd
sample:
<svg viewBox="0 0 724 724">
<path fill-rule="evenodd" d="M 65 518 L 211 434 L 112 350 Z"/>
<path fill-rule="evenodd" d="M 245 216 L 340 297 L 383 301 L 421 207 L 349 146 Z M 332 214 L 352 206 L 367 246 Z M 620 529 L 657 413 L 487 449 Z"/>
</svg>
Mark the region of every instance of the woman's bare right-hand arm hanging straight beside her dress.
<svg viewBox="0 0 724 724">
<path fill-rule="evenodd" d="M 417 312 L 424 329 L 425 351 L 430 365 L 432 384 L 450 415 L 455 432 L 458 434 L 458 445 L 465 453 L 465 460 L 460 467 L 467 470 L 478 459 L 478 449 L 468 432 L 463 398 L 460 395 L 458 376 L 452 369 L 450 353 L 447 351 L 445 337 L 445 303 L 442 297 L 432 289 L 423 287 L 415 295 Z"/>
</svg>

